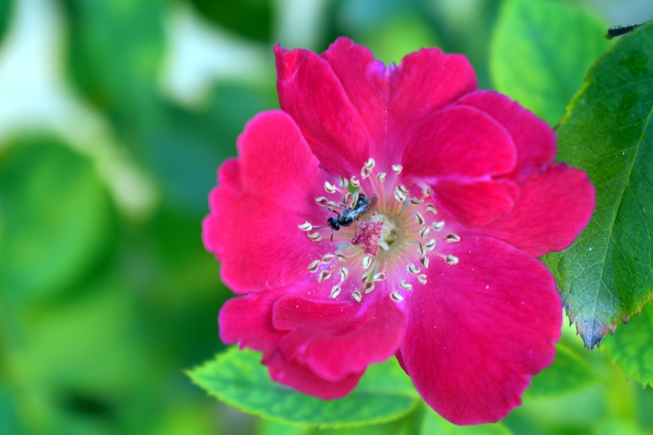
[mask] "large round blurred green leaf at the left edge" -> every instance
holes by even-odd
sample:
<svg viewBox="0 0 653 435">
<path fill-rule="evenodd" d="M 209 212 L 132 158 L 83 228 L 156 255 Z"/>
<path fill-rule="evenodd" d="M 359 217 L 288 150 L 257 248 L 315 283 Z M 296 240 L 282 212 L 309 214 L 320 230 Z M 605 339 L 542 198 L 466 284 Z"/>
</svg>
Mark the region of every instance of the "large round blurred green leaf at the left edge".
<svg viewBox="0 0 653 435">
<path fill-rule="evenodd" d="M 0 293 L 49 295 L 108 253 L 114 210 L 93 163 L 53 138 L 24 138 L 0 158 Z"/>
</svg>

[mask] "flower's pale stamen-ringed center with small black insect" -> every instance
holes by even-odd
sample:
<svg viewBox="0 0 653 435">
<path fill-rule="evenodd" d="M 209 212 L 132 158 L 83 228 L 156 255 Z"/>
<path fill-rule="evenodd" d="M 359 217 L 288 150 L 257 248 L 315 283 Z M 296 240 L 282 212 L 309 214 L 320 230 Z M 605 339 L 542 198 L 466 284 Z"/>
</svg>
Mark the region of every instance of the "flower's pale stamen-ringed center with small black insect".
<svg viewBox="0 0 653 435">
<path fill-rule="evenodd" d="M 458 242 L 460 236 L 442 231 L 445 222 L 436 219 L 436 206 L 428 202 L 430 187 L 414 184 L 408 189 L 398 184 L 400 165 L 392 165 L 392 180 L 374 167 L 374 159 L 365 163 L 362 180 L 351 176 L 340 177 L 338 184 L 325 182 L 330 198 L 315 201 L 335 216 L 325 218 L 327 225 L 298 225 L 313 242 L 334 246 L 332 254 L 308 265 L 318 283 L 327 284 L 327 289 L 330 284 L 334 299 L 349 294 L 360 302 L 364 295 L 383 288 L 392 300 L 402 302 L 402 293 L 428 282 L 430 259 L 458 263 L 454 255 L 436 249 L 442 242 Z M 357 189 L 355 193 L 349 191 L 349 184 Z"/>
</svg>

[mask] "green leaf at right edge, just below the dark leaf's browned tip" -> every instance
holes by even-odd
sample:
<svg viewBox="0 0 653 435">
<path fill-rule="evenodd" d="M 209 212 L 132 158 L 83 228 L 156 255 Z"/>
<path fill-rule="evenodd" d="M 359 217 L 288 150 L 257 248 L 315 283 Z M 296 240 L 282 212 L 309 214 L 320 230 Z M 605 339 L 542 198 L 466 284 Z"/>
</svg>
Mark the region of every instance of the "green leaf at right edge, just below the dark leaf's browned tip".
<svg viewBox="0 0 653 435">
<path fill-rule="evenodd" d="M 642 385 L 653 385 L 653 307 L 619 328 L 603 342 L 608 357 Z"/>
</svg>

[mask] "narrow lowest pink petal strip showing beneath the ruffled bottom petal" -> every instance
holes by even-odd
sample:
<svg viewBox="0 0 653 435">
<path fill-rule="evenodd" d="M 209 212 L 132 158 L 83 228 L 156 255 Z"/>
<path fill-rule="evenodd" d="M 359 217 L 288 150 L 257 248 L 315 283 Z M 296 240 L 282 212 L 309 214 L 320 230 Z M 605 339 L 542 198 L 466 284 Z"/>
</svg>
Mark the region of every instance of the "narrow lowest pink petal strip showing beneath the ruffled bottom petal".
<svg viewBox="0 0 653 435">
<path fill-rule="evenodd" d="M 270 377 L 275 381 L 293 387 L 307 395 L 321 397 L 323 399 L 334 399 L 346 396 L 356 387 L 360 373 L 352 373 L 340 381 L 332 382 L 317 376 L 310 368 L 297 361 L 289 361 L 283 353 L 276 352 L 270 357 L 263 359 L 270 369 Z"/>
</svg>

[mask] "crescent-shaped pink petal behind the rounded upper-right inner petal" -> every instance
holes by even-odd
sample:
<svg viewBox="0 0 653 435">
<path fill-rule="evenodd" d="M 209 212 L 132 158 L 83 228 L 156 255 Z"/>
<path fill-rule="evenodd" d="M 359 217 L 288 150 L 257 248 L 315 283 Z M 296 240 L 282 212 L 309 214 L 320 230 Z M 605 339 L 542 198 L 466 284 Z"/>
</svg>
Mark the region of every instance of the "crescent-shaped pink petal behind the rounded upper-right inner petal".
<svg viewBox="0 0 653 435">
<path fill-rule="evenodd" d="M 549 124 L 517 101 L 495 91 L 477 91 L 465 95 L 456 104 L 485 111 L 509 131 L 517 146 L 517 165 L 509 175 L 512 178 L 537 171 L 555 157 L 556 135 Z"/>
</svg>

